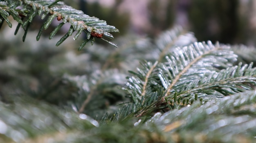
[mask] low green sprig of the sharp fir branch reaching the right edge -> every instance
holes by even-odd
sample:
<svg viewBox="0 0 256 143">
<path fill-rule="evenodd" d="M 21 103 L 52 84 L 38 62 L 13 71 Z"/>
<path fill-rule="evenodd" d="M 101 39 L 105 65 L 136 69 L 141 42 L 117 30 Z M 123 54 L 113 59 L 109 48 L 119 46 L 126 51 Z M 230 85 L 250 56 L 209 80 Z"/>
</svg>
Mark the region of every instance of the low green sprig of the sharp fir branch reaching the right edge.
<svg viewBox="0 0 256 143">
<path fill-rule="evenodd" d="M 188 89 L 191 89 L 186 90 L 177 97 L 185 97 L 197 92 L 207 94 L 212 92 L 213 94 L 214 91 L 227 96 L 236 92 L 252 90 L 252 86 L 256 85 L 255 76 L 256 68 L 252 68 L 252 64 L 242 66 L 242 63 L 240 63 L 238 66 L 229 67 L 216 73 L 216 75 L 209 76 L 207 79 L 200 81 L 200 84 L 195 88 L 188 87 Z"/>
</svg>

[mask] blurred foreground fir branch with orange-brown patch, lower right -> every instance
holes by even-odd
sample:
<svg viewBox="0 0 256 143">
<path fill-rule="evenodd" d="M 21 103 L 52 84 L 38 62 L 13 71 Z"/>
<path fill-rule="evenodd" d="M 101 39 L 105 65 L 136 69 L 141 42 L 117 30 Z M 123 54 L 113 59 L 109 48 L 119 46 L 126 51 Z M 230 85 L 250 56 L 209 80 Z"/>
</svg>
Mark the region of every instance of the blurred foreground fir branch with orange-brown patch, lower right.
<svg viewBox="0 0 256 143">
<path fill-rule="evenodd" d="M 246 131 L 250 131 L 251 135 L 254 135 L 256 124 L 252 125 L 251 123 L 256 122 L 254 118 L 255 100 L 255 91 L 251 90 L 225 97 L 222 100 L 213 99 L 202 106 L 197 102 L 190 107 L 173 110 L 163 115 L 157 113 L 147 121 L 146 125 L 157 124 L 157 127 L 165 132 L 174 131 L 178 134 L 188 130 L 201 133 L 207 131 L 205 132 L 207 136 L 222 132 L 222 134 L 218 134 L 221 138 L 246 134 Z M 166 122 L 164 123 L 164 121 Z M 218 124 L 221 121 L 224 121 L 225 124 Z"/>
</svg>

